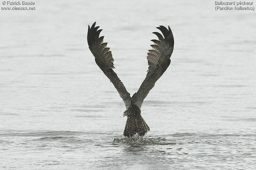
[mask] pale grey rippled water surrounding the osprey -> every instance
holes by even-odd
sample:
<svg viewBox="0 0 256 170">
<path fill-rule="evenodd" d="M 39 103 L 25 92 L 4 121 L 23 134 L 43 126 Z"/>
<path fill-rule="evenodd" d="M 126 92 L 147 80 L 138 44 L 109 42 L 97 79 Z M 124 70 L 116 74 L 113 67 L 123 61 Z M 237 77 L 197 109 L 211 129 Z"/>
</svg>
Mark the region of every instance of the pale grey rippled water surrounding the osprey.
<svg viewBox="0 0 256 170">
<path fill-rule="evenodd" d="M 255 11 L 211 1 L 35 1 L 0 13 L 0 169 L 255 169 Z M 2 5 L 2 4 L 1 4 Z M 97 21 L 135 93 L 158 25 L 172 62 L 122 136 L 124 103 L 88 49 Z"/>
</svg>

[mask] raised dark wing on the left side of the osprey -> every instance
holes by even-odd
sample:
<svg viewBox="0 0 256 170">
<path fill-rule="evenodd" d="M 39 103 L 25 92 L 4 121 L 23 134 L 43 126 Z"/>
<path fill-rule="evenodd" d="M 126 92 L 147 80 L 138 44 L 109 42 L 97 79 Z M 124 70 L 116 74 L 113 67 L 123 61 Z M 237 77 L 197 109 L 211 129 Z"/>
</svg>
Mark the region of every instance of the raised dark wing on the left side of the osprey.
<svg viewBox="0 0 256 170">
<path fill-rule="evenodd" d="M 96 22 L 92 24 L 92 27 L 88 25 L 87 41 L 89 49 L 95 57 L 96 64 L 100 67 L 103 73 L 109 78 L 109 80 L 114 84 L 116 90 L 118 91 L 120 97 L 124 100 L 125 107 L 128 109 L 131 106 L 131 96 L 130 93 L 124 87 L 124 84 L 117 77 L 114 72 L 114 59 L 112 57 L 111 51 L 107 47 L 108 43 L 103 42 L 104 36 L 99 37 L 101 29 L 98 30 L 99 26 L 95 27 Z"/>
</svg>

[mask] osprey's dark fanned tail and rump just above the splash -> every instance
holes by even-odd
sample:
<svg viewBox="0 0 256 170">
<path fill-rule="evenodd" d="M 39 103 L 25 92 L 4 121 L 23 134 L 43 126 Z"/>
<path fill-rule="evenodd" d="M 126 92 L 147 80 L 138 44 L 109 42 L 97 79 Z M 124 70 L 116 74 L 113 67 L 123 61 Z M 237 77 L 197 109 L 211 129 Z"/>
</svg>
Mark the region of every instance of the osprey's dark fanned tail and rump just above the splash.
<svg viewBox="0 0 256 170">
<path fill-rule="evenodd" d="M 124 136 L 132 137 L 136 133 L 139 136 L 144 136 L 150 129 L 145 120 L 140 115 L 140 108 L 136 105 L 132 105 L 125 112 L 124 116 L 127 116 L 126 125 L 124 128 Z"/>
</svg>

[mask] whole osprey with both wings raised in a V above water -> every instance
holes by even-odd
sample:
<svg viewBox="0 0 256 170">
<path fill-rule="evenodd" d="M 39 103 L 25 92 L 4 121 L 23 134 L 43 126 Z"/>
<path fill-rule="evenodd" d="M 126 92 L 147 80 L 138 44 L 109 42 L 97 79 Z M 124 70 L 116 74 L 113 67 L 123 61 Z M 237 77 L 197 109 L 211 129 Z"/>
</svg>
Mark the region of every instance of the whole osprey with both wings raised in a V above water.
<svg viewBox="0 0 256 170">
<path fill-rule="evenodd" d="M 110 48 L 107 47 L 107 42 L 103 42 L 104 36 L 100 36 L 102 29 L 95 26 L 96 22 L 88 25 L 87 42 L 90 51 L 95 57 L 96 64 L 100 67 L 103 73 L 113 83 L 120 97 L 123 99 L 126 110 L 123 116 L 127 116 L 127 121 L 123 135 L 132 137 L 136 133 L 139 136 L 144 136 L 149 130 L 148 124 L 141 116 L 141 105 L 148 95 L 149 91 L 155 86 L 156 81 L 164 74 L 165 70 L 171 63 L 171 55 L 174 47 L 174 38 L 170 26 L 168 29 L 163 25 L 156 27 L 159 32 L 152 32 L 158 39 L 152 39 L 152 49 L 148 50 L 148 73 L 145 80 L 142 82 L 139 90 L 130 96 L 130 93 L 124 87 L 122 81 L 114 72 L 114 59 Z"/>
</svg>

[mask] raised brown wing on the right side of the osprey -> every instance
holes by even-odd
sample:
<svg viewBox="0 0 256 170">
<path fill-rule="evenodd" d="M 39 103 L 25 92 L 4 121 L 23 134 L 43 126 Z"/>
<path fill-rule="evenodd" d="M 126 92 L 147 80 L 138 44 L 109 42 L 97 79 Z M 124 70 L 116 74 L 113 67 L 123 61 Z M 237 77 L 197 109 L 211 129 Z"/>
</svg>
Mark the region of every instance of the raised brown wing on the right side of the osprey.
<svg viewBox="0 0 256 170">
<path fill-rule="evenodd" d="M 132 96 L 132 103 L 139 107 L 141 107 L 149 91 L 171 63 L 170 58 L 174 46 L 172 30 L 170 26 L 168 26 L 168 29 L 162 25 L 156 28 L 163 33 L 164 37 L 159 32 L 153 32 L 158 37 L 158 40 L 152 39 L 151 41 L 154 42 L 154 45 L 151 45 L 153 50 L 148 50 L 148 74 L 138 92 Z"/>
</svg>

